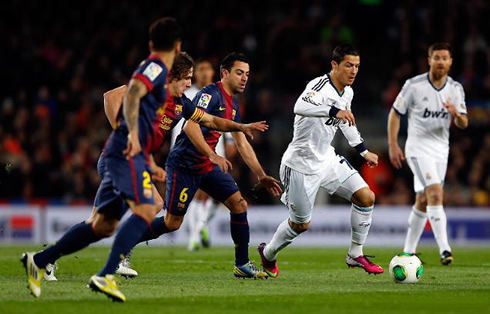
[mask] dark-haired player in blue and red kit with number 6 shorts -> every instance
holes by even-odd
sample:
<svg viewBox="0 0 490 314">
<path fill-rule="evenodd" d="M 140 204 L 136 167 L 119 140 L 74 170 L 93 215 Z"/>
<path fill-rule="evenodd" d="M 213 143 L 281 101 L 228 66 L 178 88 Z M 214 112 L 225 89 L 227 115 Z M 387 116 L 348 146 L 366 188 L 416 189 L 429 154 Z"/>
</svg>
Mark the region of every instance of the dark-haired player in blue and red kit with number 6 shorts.
<svg viewBox="0 0 490 314">
<path fill-rule="evenodd" d="M 247 85 L 250 72 L 248 58 L 240 53 L 230 53 L 223 59 L 220 72 L 221 80 L 204 87 L 194 98 L 194 103 L 209 114 L 240 121 L 239 107 L 234 96 L 243 93 Z M 265 173 L 252 146 L 242 135 L 239 132 L 232 133 L 238 152 L 257 176 L 259 184 L 273 196 L 278 196 L 281 193 L 279 181 Z M 235 243 L 235 277 L 267 278 L 265 272 L 249 261 L 247 202 L 232 176 L 223 171 L 226 169 L 220 169 L 210 159 L 215 154 L 214 148 L 220 136 L 220 132 L 205 126 L 186 123 L 184 132 L 177 138 L 167 160 L 167 213 L 165 218 L 157 218 L 152 222 L 140 242 L 178 230 L 196 191 L 201 189 L 230 210 L 231 236 Z M 207 145 L 199 143 L 202 137 Z"/>
</svg>

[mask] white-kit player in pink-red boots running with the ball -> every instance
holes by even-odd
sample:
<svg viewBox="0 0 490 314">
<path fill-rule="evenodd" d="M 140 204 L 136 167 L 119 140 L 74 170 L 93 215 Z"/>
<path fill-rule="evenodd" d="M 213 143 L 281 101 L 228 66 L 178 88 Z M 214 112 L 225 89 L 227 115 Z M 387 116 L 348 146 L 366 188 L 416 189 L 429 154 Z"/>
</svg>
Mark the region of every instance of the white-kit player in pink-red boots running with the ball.
<svg viewBox="0 0 490 314">
<path fill-rule="evenodd" d="M 370 274 L 383 268 L 363 254 L 374 207 L 374 193 L 359 173 L 331 146 L 340 128 L 349 145 L 366 159 L 378 164 L 378 156 L 366 149 L 351 113 L 354 82 L 360 65 L 359 52 L 350 45 L 337 46 L 332 56 L 332 71 L 308 83 L 294 105 L 294 135 L 281 161 L 284 193 L 281 201 L 289 218 L 277 228 L 272 240 L 258 247 L 262 266 L 271 277 L 279 275 L 277 254 L 308 230 L 313 205 L 320 187 L 352 202 L 351 245 L 346 256 L 349 267 L 361 267 Z"/>
</svg>

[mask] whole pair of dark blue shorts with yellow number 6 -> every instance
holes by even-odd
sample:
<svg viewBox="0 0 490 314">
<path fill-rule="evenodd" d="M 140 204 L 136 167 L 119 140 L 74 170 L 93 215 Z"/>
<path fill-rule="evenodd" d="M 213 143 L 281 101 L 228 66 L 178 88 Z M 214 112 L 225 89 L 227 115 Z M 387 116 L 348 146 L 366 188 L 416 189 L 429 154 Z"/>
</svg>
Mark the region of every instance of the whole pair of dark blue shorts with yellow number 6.
<svg viewBox="0 0 490 314">
<path fill-rule="evenodd" d="M 203 174 L 190 174 L 170 166 L 167 166 L 165 170 L 167 171 L 165 205 L 169 213 L 175 216 L 185 215 L 198 189 L 221 203 L 238 192 L 238 186 L 233 177 L 221 171 L 219 167 Z"/>
</svg>

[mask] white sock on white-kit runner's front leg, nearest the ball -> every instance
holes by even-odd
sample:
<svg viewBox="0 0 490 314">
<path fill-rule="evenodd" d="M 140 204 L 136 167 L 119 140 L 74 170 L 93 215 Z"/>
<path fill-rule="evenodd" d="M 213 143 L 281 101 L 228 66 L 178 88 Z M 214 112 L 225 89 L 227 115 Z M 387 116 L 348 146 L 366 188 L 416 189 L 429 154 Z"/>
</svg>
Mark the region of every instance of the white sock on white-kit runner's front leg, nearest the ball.
<svg viewBox="0 0 490 314">
<path fill-rule="evenodd" d="M 366 242 L 369 228 L 371 227 L 374 206 L 360 207 L 352 204 L 351 208 L 351 244 L 349 247 L 349 255 L 356 258 L 363 254 L 362 246 L 364 245 L 364 242 Z"/>
</svg>

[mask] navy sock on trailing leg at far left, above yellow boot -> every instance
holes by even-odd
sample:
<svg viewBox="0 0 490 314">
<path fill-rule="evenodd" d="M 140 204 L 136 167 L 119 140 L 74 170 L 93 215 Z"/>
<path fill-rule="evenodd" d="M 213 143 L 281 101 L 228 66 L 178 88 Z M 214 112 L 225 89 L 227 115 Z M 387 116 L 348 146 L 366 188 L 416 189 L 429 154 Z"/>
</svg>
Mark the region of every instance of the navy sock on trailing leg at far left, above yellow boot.
<svg viewBox="0 0 490 314">
<path fill-rule="evenodd" d="M 38 267 L 45 268 L 61 256 L 79 251 L 100 239 L 101 237 L 95 235 L 92 224 L 83 221 L 68 229 L 55 245 L 34 255 L 34 262 Z"/>
</svg>

